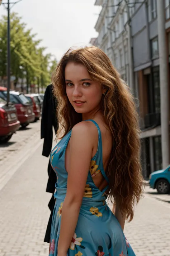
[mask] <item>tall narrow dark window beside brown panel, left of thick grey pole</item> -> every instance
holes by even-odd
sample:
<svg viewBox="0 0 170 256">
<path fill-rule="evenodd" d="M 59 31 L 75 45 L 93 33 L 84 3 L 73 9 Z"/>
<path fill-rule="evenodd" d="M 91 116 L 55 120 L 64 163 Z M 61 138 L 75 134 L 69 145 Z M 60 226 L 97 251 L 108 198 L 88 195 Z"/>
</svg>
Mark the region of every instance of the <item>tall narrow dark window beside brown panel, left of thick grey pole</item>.
<svg viewBox="0 0 170 256">
<path fill-rule="evenodd" d="M 153 68 L 154 112 L 161 112 L 159 67 Z"/>
</svg>

